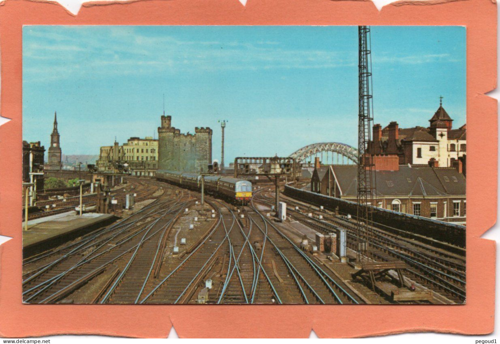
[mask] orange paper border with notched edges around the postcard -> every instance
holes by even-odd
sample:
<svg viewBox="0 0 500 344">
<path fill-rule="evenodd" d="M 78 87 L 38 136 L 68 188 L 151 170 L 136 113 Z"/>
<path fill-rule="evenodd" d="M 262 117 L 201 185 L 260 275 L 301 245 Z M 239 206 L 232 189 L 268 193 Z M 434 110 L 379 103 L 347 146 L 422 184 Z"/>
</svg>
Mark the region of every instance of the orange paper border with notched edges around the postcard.
<svg viewBox="0 0 500 344">
<path fill-rule="evenodd" d="M 145 0 L 85 3 L 74 16 L 54 2 L 0 3 L 0 336 L 363 337 L 493 330 L 496 219 L 496 4 L 489 0 Z M 99 25 L 465 25 L 467 27 L 467 302 L 464 306 L 112 306 L 21 304 L 21 28 Z"/>
</svg>

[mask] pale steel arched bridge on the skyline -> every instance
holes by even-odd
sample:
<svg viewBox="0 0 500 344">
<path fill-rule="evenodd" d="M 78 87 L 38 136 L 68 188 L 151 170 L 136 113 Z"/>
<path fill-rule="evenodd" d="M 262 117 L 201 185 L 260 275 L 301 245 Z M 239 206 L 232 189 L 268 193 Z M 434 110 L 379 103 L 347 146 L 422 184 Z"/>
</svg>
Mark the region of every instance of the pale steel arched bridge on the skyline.
<svg viewBox="0 0 500 344">
<path fill-rule="evenodd" d="M 323 154 L 326 155 L 326 160 L 323 160 Z M 323 164 L 329 162 L 331 164 L 357 164 L 357 149 L 340 142 L 320 142 L 307 145 L 290 154 L 290 158 L 295 158 L 301 163 L 313 162 L 314 157 L 319 157 Z"/>
</svg>

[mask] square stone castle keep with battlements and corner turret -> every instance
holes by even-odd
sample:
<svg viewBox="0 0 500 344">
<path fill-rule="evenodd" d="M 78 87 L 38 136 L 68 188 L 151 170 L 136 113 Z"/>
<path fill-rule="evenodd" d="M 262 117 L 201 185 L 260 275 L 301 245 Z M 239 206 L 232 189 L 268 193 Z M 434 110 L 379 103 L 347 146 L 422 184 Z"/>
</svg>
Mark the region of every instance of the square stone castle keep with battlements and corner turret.
<svg viewBox="0 0 500 344">
<path fill-rule="evenodd" d="M 172 116 L 161 116 L 158 127 L 158 169 L 181 172 L 206 172 L 212 162 L 212 130 L 194 128 L 182 134 L 172 127 Z"/>
</svg>

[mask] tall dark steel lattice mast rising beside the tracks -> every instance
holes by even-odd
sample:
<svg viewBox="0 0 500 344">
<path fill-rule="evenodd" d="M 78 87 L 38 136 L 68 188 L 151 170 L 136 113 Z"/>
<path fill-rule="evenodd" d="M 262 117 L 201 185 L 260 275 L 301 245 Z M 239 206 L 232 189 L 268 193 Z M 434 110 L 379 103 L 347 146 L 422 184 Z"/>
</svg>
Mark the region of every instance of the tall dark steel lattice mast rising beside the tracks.
<svg viewBox="0 0 500 344">
<path fill-rule="evenodd" d="M 357 164 L 357 260 L 367 256 L 368 238 L 372 231 L 372 212 L 368 204 L 374 205 L 375 193 L 373 175 L 373 155 L 368 145 L 371 141 L 373 126 L 372 94 L 371 94 L 371 51 L 370 28 L 358 26 L 359 38 L 359 111 L 358 111 L 358 164 Z"/>
</svg>

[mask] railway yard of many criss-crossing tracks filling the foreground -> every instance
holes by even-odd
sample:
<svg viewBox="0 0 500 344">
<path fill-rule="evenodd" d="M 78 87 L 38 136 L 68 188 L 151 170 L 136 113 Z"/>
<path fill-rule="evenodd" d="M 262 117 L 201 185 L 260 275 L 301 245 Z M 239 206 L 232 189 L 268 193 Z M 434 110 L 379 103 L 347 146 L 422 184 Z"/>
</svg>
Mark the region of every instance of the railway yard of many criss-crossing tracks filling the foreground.
<svg viewBox="0 0 500 344">
<path fill-rule="evenodd" d="M 287 219 L 274 217 L 274 186 L 260 183 L 246 205 L 148 178 L 111 190 L 132 210 L 76 237 L 24 255 L 23 301 L 34 304 L 459 304 L 465 301 L 465 249 L 374 222 L 373 262 L 397 260 L 376 285 L 356 275 L 351 214 L 281 196 Z M 96 194 L 85 196 L 91 205 Z M 51 201 L 53 202 L 53 201 Z M 77 205 L 67 198 L 57 210 Z M 61 201 L 62 203 L 62 201 Z M 43 205 L 43 204 L 41 204 Z M 47 214 L 48 213 L 48 214 Z M 41 217 L 42 214 L 35 214 Z M 32 220 L 33 218 L 30 218 Z M 347 260 L 311 243 L 346 232 Z M 314 248 L 312 248 L 314 247 Z M 402 278 L 402 283 L 401 279 Z M 398 299 L 399 293 L 425 298 Z M 406 295 L 405 294 L 405 295 Z M 416 294 L 415 294 L 416 295 Z"/>
</svg>

